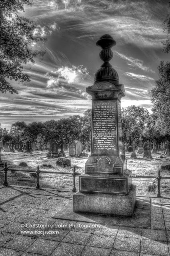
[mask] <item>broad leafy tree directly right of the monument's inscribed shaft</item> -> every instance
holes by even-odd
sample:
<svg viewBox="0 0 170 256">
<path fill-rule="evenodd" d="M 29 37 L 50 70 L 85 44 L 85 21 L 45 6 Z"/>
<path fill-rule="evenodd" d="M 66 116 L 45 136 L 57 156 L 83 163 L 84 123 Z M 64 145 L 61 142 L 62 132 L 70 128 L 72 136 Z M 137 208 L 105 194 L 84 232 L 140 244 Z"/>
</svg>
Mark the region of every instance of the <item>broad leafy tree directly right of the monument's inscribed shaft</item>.
<svg viewBox="0 0 170 256">
<path fill-rule="evenodd" d="M 137 142 L 148 118 L 148 110 L 140 106 L 122 108 L 122 140 L 130 144 L 133 140 Z"/>
</svg>

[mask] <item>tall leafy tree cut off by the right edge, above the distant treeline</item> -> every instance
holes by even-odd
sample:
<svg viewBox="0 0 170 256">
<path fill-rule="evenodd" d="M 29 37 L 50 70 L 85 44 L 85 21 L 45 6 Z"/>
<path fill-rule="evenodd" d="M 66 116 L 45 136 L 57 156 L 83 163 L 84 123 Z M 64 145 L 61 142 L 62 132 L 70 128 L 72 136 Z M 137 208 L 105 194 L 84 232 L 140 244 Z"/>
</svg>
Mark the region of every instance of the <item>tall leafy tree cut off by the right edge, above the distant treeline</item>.
<svg viewBox="0 0 170 256">
<path fill-rule="evenodd" d="M 154 128 L 160 135 L 166 136 L 170 135 L 170 62 L 164 64 L 161 61 L 158 72 L 159 79 L 149 94 L 153 103 L 152 112 L 157 117 Z"/>
</svg>

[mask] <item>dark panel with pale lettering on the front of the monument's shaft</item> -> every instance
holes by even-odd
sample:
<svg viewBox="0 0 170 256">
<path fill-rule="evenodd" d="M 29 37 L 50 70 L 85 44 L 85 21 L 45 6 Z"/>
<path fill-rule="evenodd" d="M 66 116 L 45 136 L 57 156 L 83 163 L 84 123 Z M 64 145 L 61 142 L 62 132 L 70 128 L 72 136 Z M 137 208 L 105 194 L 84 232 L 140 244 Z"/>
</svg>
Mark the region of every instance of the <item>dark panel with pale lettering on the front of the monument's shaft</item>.
<svg viewBox="0 0 170 256">
<path fill-rule="evenodd" d="M 118 154 L 116 102 L 93 103 L 92 154 Z"/>
</svg>

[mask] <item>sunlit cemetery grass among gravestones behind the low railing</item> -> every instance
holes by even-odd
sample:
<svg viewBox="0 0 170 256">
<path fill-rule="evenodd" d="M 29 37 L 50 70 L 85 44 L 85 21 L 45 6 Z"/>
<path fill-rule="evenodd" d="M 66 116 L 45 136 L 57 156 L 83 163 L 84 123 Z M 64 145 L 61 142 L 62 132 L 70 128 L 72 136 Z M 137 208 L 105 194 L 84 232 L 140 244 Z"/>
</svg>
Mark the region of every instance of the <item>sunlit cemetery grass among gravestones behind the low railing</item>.
<svg viewBox="0 0 170 256">
<path fill-rule="evenodd" d="M 65 151 L 66 157 L 68 157 L 68 150 Z M 30 153 L 24 152 L 2 152 L 1 159 L 2 162 L 7 161 L 9 168 L 20 168 L 18 165 L 21 162 L 26 162 L 28 167 L 25 169 L 36 169 L 37 166 L 40 166 L 40 170 L 46 170 L 50 172 L 72 172 L 72 169 L 67 167 L 62 168 L 56 166 L 56 158 L 47 158 L 47 151 L 34 151 Z M 137 159 L 130 158 L 131 153 L 126 152 L 127 166 L 129 170 L 132 170 L 132 175 L 155 175 L 158 172 L 158 168 L 161 165 L 170 164 L 170 156 L 162 155 L 164 158 L 160 158 L 161 154 L 153 154 L 152 160 L 147 160 L 143 158 L 143 154 L 137 154 Z M 75 158 L 72 157 L 71 164 L 72 167 L 76 167 L 76 172 L 84 173 L 84 164 L 87 158 Z M 51 164 L 53 168 L 42 168 L 42 164 Z M 170 171 L 161 170 L 161 176 L 170 176 Z M 4 181 L 4 173 L 0 172 L 0 184 Z M 137 194 L 156 196 L 156 192 L 148 192 L 148 185 L 152 182 L 151 179 L 143 178 L 132 178 L 132 183 L 137 186 Z M 20 185 L 20 186 L 36 186 L 36 178 L 30 177 L 29 173 L 26 172 L 8 172 L 8 183 L 11 185 Z M 156 182 L 157 183 L 157 182 Z M 55 188 L 57 190 L 72 190 L 73 187 L 73 178 L 70 174 L 40 174 L 40 186 L 42 188 Z M 76 188 L 78 190 L 79 178 L 76 177 Z M 160 182 L 160 191 L 161 196 L 170 196 L 170 180 L 161 180 Z"/>
</svg>

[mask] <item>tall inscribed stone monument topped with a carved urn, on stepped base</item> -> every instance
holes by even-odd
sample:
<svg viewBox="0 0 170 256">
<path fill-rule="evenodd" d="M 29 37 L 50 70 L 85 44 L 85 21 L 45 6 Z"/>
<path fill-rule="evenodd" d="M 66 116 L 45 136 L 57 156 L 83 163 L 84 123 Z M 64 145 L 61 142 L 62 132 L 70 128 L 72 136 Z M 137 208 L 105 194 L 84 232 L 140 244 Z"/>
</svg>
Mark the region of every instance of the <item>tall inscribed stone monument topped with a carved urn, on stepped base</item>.
<svg viewBox="0 0 170 256">
<path fill-rule="evenodd" d="M 74 212 L 132 216 L 136 202 L 136 186 L 131 184 L 131 171 L 122 154 L 120 99 L 125 96 L 124 85 L 119 84 L 109 63 L 115 44 L 110 35 L 97 42 L 104 64 L 96 72 L 94 84 L 86 88 L 92 96 L 91 153 L 85 173 L 79 176 L 79 191 L 73 195 Z"/>
</svg>

